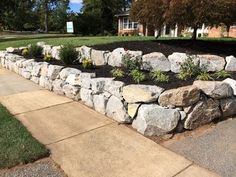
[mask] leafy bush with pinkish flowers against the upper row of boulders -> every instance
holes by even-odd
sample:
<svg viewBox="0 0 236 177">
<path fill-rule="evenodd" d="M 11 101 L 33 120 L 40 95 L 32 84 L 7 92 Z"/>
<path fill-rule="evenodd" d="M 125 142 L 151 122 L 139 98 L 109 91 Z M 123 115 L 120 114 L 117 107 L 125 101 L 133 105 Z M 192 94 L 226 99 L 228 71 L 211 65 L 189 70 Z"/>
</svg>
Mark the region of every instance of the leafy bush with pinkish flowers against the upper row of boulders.
<svg viewBox="0 0 236 177">
<path fill-rule="evenodd" d="M 141 60 L 139 58 L 132 58 L 129 53 L 123 55 L 122 64 L 129 71 L 132 71 L 134 69 L 140 70 L 142 66 Z"/>
</svg>

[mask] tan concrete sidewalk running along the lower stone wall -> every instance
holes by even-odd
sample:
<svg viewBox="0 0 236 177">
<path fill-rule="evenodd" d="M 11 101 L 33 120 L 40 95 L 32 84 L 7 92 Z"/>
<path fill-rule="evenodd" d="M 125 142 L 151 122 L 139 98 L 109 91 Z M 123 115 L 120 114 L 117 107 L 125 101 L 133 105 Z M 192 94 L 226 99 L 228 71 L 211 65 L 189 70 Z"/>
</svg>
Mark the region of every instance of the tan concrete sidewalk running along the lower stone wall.
<svg viewBox="0 0 236 177">
<path fill-rule="evenodd" d="M 218 176 L 16 74 L 0 69 L 0 84 L 0 103 L 48 146 L 69 177 Z"/>
</svg>

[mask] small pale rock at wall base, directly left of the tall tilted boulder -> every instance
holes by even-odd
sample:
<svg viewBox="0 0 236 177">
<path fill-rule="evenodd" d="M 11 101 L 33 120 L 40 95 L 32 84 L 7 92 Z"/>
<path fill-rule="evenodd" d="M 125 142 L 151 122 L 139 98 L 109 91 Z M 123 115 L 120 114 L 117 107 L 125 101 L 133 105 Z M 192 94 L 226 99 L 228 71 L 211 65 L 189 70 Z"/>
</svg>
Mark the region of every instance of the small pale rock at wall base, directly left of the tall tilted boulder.
<svg viewBox="0 0 236 177">
<path fill-rule="evenodd" d="M 93 96 L 94 108 L 97 112 L 104 115 L 106 114 L 106 106 L 110 96 L 111 94 L 109 93 L 102 93 L 100 95 Z"/>
</svg>

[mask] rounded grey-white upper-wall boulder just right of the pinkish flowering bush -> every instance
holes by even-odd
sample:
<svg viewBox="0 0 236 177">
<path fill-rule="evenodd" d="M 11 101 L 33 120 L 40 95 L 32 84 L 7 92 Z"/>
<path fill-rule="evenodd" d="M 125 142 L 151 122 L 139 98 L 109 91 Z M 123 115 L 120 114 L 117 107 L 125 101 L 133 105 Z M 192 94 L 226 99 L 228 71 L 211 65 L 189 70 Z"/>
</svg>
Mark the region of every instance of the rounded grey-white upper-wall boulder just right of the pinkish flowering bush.
<svg viewBox="0 0 236 177">
<path fill-rule="evenodd" d="M 142 57 L 143 69 L 148 71 L 170 71 L 170 61 L 159 52 L 143 55 Z"/>
</svg>

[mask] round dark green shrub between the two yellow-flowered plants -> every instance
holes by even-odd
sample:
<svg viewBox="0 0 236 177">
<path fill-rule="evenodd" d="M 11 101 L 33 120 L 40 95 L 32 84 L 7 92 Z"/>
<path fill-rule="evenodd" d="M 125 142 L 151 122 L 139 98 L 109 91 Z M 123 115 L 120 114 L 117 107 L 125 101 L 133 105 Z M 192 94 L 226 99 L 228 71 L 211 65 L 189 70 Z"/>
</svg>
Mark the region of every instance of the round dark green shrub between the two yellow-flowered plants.
<svg viewBox="0 0 236 177">
<path fill-rule="evenodd" d="M 63 46 L 59 51 L 60 59 L 67 65 L 74 64 L 77 61 L 78 56 L 79 52 L 70 44 Z"/>
</svg>

